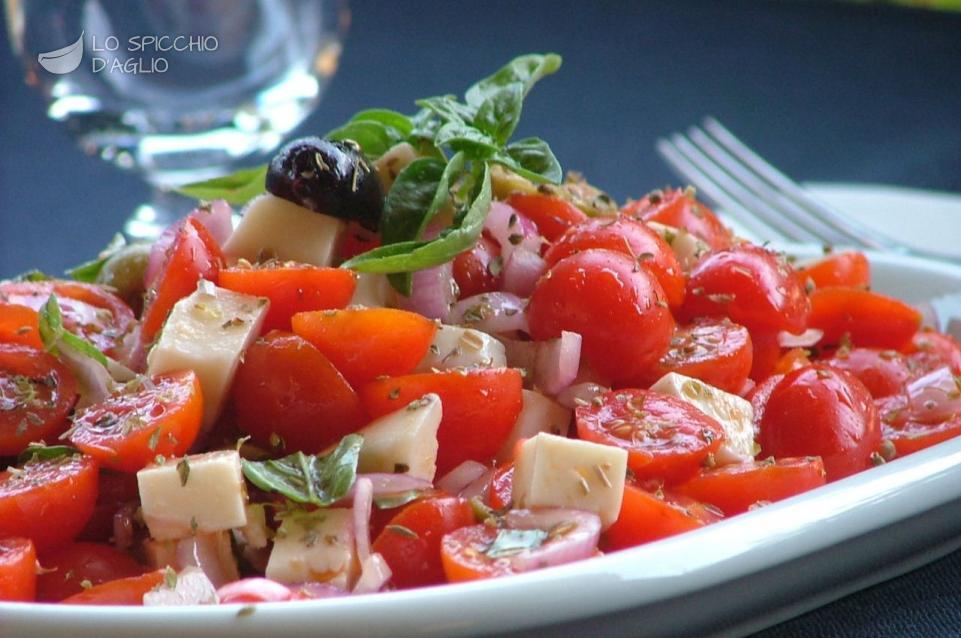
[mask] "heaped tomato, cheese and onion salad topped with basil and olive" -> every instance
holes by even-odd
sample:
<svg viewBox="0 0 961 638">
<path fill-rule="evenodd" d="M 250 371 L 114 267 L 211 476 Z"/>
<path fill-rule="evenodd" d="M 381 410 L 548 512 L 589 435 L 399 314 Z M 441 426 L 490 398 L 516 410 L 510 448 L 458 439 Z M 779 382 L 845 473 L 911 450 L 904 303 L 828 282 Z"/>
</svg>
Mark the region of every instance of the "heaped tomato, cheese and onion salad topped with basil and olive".
<svg viewBox="0 0 961 638">
<path fill-rule="evenodd" d="M 0 282 L 0 600 L 504 577 L 961 433 L 961 346 L 864 254 L 798 263 L 690 188 L 618 205 L 513 140 L 560 64 L 362 111 L 184 187 L 151 244 Z"/>
</svg>

